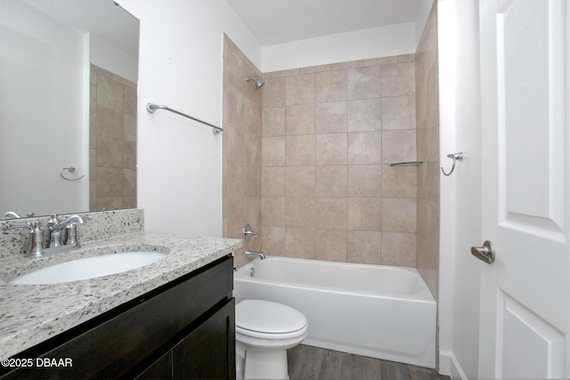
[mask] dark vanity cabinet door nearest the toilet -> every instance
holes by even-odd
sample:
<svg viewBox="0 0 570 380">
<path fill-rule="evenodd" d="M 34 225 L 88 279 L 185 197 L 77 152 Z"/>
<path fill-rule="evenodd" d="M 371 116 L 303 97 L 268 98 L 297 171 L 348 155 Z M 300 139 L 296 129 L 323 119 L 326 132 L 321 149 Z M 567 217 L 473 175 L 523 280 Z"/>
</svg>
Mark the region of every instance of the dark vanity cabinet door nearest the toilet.
<svg viewBox="0 0 570 380">
<path fill-rule="evenodd" d="M 235 379 L 235 299 L 176 344 L 175 379 Z"/>
</svg>

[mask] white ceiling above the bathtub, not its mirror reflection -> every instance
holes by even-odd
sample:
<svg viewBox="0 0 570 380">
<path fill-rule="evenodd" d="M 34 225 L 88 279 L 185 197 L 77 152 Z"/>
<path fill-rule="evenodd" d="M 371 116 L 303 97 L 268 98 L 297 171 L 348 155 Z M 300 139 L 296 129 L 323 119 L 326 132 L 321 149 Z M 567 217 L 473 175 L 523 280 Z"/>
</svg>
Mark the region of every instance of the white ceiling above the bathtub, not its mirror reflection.
<svg viewBox="0 0 570 380">
<path fill-rule="evenodd" d="M 413 22 L 427 0 L 227 0 L 262 46 Z"/>
</svg>

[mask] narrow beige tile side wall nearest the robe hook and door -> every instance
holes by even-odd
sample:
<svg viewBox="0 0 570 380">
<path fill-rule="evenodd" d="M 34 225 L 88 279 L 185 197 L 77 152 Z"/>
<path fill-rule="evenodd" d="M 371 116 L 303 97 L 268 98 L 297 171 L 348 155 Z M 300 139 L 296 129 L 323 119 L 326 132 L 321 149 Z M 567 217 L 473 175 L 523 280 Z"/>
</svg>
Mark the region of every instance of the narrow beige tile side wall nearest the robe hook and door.
<svg viewBox="0 0 570 380">
<path fill-rule="evenodd" d="M 434 2 L 416 53 L 418 158 L 417 268 L 438 298 L 439 279 L 439 90 L 437 2 Z"/>
</svg>

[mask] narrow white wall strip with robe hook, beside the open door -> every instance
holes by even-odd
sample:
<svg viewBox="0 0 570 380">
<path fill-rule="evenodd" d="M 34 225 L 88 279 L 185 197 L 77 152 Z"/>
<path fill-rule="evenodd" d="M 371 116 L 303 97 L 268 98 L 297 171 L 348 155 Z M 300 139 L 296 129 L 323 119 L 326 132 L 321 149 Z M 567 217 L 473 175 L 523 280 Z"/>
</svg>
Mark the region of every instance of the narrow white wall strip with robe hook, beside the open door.
<svg viewBox="0 0 570 380">
<path fill-rule="evenodd" d="M 438 0 L 440 160 L 464 159 L 441 176 L 440 366 L 453 378 L 477 378 L 479 270 L 470 254 L 481 239 L 481 126 L 478 2 Z"/>
</svg>

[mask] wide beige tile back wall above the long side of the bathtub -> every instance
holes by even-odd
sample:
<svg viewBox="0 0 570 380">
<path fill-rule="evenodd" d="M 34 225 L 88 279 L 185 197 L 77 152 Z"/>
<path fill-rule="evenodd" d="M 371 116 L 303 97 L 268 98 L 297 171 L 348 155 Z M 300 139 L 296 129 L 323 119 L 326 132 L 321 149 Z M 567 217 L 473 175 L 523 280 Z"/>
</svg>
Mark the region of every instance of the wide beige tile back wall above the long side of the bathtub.
<svg viewBox="0 0 570 380">
<path fill-rule="evenodd" d="M 265 74 L 261 233 L 270 255 L 416 265 L 414 54 Z"/>
</svg>

